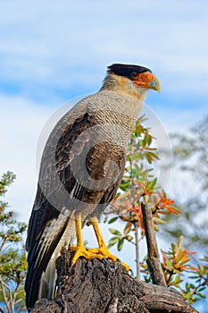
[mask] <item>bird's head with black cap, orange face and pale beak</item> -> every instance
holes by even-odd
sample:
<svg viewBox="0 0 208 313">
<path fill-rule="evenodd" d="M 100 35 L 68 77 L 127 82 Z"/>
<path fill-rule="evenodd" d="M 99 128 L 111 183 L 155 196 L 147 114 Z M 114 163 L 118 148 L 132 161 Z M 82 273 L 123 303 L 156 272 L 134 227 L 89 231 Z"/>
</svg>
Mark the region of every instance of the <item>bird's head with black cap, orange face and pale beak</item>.
<svg viewBox="0 0 208 313">
<path fill-rule="evenodd" d="M 129 94 L 143 100 L 149 89 L 160 92 L 160 81 L 144 66 L 115 63 L 108 66 L 101 90 Z"/>
</svg>

